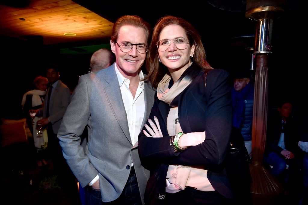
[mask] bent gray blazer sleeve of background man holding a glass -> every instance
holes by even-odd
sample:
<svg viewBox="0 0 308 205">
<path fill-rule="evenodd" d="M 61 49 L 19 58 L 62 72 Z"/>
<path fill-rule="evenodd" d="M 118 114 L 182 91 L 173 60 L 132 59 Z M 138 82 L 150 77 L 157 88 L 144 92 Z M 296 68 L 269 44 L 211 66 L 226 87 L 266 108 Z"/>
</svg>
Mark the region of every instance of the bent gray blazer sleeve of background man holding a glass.
<svg viewBox="0 0 308 205">
<path fill-rule="evenodd" d="M 67 106 L 69 104 L 69 99 L 70 99 L 70 96 L 71 96 L 71 92 L 70 90 L 68 89 L 67 86 L 63 86 L 62 85 L 62 82 L 61 82 L 61 86 L 62 86 L 62 89 L 59 93 L 59 96 L 60 96 L 60 102 L 61 102 L 61 107 L 60 109 L 58 109 L 53 115 L 50 115 L 48 117 L 49 121 L 54 124 L 56 122 L 58 122 L 60 119 L 63 118 L 64 114 L 65 114 L 65 111 L 67 109 Z"/>
</svg>

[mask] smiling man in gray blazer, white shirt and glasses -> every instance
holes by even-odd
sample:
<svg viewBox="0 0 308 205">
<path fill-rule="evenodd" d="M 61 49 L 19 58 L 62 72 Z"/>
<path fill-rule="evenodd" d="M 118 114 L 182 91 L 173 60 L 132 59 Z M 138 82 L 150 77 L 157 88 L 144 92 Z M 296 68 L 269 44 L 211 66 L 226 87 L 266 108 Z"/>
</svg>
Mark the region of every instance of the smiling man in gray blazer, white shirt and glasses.
<svg viewBox="0 0 308 205">
<path fill-rule="evenodd" d="M 116 62 L 79 78 L 58 132 L 63 156 L 88 204 L 141 204 L 149 171 L 141 166 L 138 135 L 154 102 L 141 71 L 148 50 L 149 26 L 138 16 L 122 16 L 113 27 Z M 88 128 L 85 152 L 80 146 Z"/>
</svg>

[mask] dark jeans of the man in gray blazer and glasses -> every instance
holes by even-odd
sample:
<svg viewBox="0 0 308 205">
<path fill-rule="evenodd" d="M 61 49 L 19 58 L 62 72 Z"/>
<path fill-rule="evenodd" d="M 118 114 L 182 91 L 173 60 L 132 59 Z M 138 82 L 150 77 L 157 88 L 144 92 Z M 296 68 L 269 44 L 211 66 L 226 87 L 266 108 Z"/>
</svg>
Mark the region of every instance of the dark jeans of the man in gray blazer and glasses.
<svg viewBox="0 0 308 205">
<path fill-rule="evenodd" d="M 102 202 L 100 190 L 93 189 L 90 186 L 87 186 L 85 190 L 87 205 L 105 204 Z M 131 172 L 120 197 L 106 204 L 142 204 L 134 167 L 131 167 Z"/>
</svg>

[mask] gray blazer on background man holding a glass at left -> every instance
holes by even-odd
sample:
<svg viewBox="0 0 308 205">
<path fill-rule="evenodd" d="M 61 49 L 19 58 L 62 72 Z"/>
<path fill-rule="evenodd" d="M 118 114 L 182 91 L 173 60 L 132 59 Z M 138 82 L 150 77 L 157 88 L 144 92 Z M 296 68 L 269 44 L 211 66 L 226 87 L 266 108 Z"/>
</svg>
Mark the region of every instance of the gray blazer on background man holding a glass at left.
<svg viewBox="0 0 308 205">
<path fill-rule="evenodd" d="M 51 99 L 49 101 L 49 117 L 52 124 L 52 130 L 55 134 L 58 133 L 63 115 L 66 111 L 66 108 L 69 103 L 69 98 L 71 96 L 70 89 L 59 80 L 57 86 L 55 88 L 54 92 L 51 95 Z M 46 118 L 46 112 L 47 112 L 47 98 L 48 98 L 48 92 L 46 93 L 45 103 L 44 103 L 44 111 L 43 111 L 43 118 Z M 43 109 L 42 109 L 43 110 Z"/>
</svg>

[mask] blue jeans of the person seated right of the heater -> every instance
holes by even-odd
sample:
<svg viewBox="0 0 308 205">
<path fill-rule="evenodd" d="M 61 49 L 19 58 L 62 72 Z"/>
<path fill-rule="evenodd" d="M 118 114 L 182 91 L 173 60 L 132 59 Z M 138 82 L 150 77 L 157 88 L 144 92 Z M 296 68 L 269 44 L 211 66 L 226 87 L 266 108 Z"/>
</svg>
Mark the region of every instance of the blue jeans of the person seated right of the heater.
<svg viewBox="0 0 308 205">
<path fill-rule="evenodd" d="M 283 156 L 279 156 L 278 154 L 271 152 L 269 156 L 264 155 L 264 161 L 268 163 L 269 165 L 272 165 L 273 168 L 270 170 L 270 172 L 277 177 L 279 174 L 281 174 L 286 169 L 286 160 L 283 158 Z"/>
</svg>

